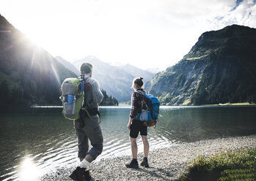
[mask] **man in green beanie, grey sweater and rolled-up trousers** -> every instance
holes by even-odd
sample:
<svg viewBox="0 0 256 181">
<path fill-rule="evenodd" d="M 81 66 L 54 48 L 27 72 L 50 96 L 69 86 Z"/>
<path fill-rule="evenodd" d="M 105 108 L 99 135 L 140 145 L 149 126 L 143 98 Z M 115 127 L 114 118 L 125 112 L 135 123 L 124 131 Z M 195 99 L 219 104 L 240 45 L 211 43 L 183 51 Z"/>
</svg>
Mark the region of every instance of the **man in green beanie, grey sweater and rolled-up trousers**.
<svg viewBox="0 0 256 181">
<path fill-rule="evenodd" d="M 101 133 L 98 104 L 103 99 L 100 86 L 97 80 L 92 78 L 92 64 L 83 63 L 81 65 L 81 74 L 87 83 L 87 90 L 84 92 L 84 107 L 87 111 L 80 110 L 80 118 L 74 120 L 76 135 L 78 137 L 78 158 L 80 165 L 70 174 L 73 180 L 93 180 L 89 173 L 89 164 L 94 161 L 103 150 L 103 136 Z M 89 115 L 87 114 L 89 112 Z M 89 150 L 88 139 L 91 142 L 92 149 Z M 89 151 L 88 151 L 89 150 Z"/>
</svg>

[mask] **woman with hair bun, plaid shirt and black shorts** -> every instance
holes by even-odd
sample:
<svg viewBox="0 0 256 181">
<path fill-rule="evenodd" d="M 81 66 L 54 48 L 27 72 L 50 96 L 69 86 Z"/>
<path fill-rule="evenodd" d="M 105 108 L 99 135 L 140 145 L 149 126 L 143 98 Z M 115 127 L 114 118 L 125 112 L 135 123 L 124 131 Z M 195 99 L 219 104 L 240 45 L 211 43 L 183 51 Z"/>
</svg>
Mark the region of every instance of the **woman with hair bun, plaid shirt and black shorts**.
<svg viewBox="0 0 256 181">
<path fill-rule="evenodd" d="M 136 139 L 140 133 L 142 136 L 142 142 L 144 145 L 144 156 L 141 166 L 148 167 L 147 157 L 150 150 L 150 145 L 147 141 L 147 124 L 144 121 L 139 120 L 139 114 L 142 113 L 142 109 L 147 109 L 145 102 L 143 101 L 143 95 L 145 90 L 143 90 L 143 78 L 137 77 L 133 81 L 132 87 L 135 92 L 131 95 L 131 112 L 130 119 L 127 125 L 128 130 L 130 131 L 130 142 L 131 142 L 131 153 L 133 159 L 130 163 L 125 164 L 127 168 L 139 168 L 137 161 L 138 147 Z"/>
</svg>

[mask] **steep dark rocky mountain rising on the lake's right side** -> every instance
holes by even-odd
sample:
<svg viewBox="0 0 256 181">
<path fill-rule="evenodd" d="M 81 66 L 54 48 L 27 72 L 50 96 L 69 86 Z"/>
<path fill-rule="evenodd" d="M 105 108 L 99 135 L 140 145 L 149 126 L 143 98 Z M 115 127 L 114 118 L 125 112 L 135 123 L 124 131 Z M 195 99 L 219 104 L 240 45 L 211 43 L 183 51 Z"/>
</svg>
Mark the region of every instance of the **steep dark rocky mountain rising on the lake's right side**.
<svg viewBox="0 0 256 181">
<path fill-rule="evenodd" d="M 164 104 L 256 102 L 256 29 L 227 26 L 200 36 L 147 85 Z"/>
</svg>

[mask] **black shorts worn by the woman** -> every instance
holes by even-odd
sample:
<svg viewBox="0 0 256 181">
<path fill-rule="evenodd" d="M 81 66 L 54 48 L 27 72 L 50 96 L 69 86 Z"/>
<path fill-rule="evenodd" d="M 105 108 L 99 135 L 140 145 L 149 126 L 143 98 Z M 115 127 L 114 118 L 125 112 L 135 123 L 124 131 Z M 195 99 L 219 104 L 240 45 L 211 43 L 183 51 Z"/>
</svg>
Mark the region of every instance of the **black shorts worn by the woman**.
<svg viewBox="0 0 256 181">
<path fill-rule="evenodd" d="M 140 121 L 140 120 L 134 120 L 132 123 L 131 123 L 131 131 L 130 131 L 130 136 L 132 138 L 136 138 L 138 137 L 139 135 L 139 132 L 140 132 L 140 135 L 142 136 L 147 136 L 147 127 L 144 126 L 143 124 L 144 122 L 143 121 Z"/>
</svg>

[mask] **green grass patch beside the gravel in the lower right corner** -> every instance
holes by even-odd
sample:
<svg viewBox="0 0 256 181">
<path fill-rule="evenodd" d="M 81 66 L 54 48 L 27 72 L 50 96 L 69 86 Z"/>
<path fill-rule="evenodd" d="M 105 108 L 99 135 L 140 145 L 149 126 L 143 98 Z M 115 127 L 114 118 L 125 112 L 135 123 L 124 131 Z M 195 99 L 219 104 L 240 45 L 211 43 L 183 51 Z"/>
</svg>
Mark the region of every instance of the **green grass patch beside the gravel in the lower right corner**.
<svg viewBox="0 0 256 181">
<path fill-rule="evenodd" d="M 229 150 L 210 158 L 199 155 L 179 180 L 256 180 L 256 148 Z"/>
</svg>

